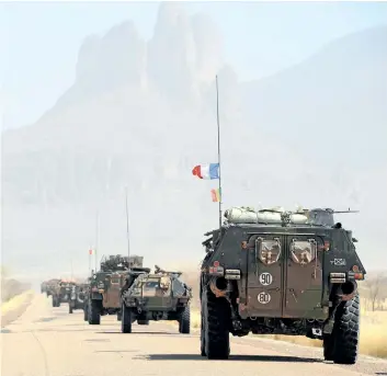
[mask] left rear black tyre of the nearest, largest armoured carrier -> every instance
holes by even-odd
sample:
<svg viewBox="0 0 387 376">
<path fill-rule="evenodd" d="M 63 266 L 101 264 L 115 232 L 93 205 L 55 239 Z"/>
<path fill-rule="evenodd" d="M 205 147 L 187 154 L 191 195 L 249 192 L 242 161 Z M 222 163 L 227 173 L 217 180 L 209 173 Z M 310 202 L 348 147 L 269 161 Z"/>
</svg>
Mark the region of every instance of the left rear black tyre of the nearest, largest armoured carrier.
<svg viewBox="0 0 387 376">
<path fill-rule="evenodd" d="M 230 307 L 208 289 L 203 292 L 205 353 L 208 360 L 227 360 L 230 354 Z"/>
</svg>

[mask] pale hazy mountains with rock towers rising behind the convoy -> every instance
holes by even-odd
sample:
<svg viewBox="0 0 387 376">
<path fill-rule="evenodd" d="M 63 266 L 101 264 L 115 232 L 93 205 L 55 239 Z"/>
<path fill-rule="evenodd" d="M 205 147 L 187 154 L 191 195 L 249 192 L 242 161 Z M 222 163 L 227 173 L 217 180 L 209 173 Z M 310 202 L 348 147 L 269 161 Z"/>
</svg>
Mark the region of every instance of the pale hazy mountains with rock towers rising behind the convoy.
<svg viewBox="0 0 387 376">
<path fill-rule="evenodd" d="M 217 182 L 191 172 L 217 161 L 216 75 L 224 208 L 357 209 L 339 220 L 365 267 L 378 267 L 387 26 L 249 82 L 223 43 L 206 14 L 177 3 L 160 5 L 150 39 L 132 21 L 84 38 L 73 84 L 34 124 L 2 133 L 2 264 L 15 277 L 87 275 L 90 247 L 99 259 L 126 253 L 125 186 L 130 252 L 196 270 L 203 233 L 218 224 Z"/>
</svg>

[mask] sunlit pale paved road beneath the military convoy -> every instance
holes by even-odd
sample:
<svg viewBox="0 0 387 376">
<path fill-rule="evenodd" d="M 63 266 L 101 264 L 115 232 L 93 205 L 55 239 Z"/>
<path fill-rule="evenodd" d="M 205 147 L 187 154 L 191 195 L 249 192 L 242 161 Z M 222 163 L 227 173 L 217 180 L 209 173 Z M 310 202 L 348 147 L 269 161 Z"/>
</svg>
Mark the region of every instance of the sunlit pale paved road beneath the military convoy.
<svg viewBox="0 0 387 376">
<path fill-rule="evenodd" d="M 387 375 L 385 361 L 333 365 L 321 361 L 319 349 L 250 337 L 232 338 L 230 360 L 207 361 L 200 356 L 197 333 L 179 334 L 177 326 L 155 322 L 122 334 L 114 316 L 89 326 L 82 311 L 52 308 L 44 295 L 2 329 L 1 340 L 4 376 Z"/>
</svg>

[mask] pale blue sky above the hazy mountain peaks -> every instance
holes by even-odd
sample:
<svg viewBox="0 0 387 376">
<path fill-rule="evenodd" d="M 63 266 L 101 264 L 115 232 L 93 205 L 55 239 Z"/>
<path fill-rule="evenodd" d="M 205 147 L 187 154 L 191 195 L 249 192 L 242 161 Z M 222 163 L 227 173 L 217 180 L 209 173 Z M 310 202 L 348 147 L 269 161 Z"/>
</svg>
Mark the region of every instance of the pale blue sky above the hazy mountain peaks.
<svg viewBox="0 0 387 376">
<path fill-rule="evenodd" d="M 159 2 L 0 4 L 2 128 L 35 122 L 71 86 L 78 48 L 91 33 L 132 19 L 150 38 Z M 242 80 L 271 75 L 345 34 L 387 24 L 387 2 L 185 2 L 209 14 L 225 60 Z"/>
</svg>

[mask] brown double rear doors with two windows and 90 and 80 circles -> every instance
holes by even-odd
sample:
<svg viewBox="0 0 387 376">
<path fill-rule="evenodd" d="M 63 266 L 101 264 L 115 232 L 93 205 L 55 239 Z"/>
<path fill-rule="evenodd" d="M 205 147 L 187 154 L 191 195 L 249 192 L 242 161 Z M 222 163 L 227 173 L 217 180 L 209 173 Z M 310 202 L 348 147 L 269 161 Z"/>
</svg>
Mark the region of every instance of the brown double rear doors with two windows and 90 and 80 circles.
<svg viewBox="0 0 387 376">
<path fill-rule="evenodd" d="M 323 318 L 323 240 L 315 235 L 268 235 L 250 238 L 248 311 L 257 317 Z"/>
</svg>

